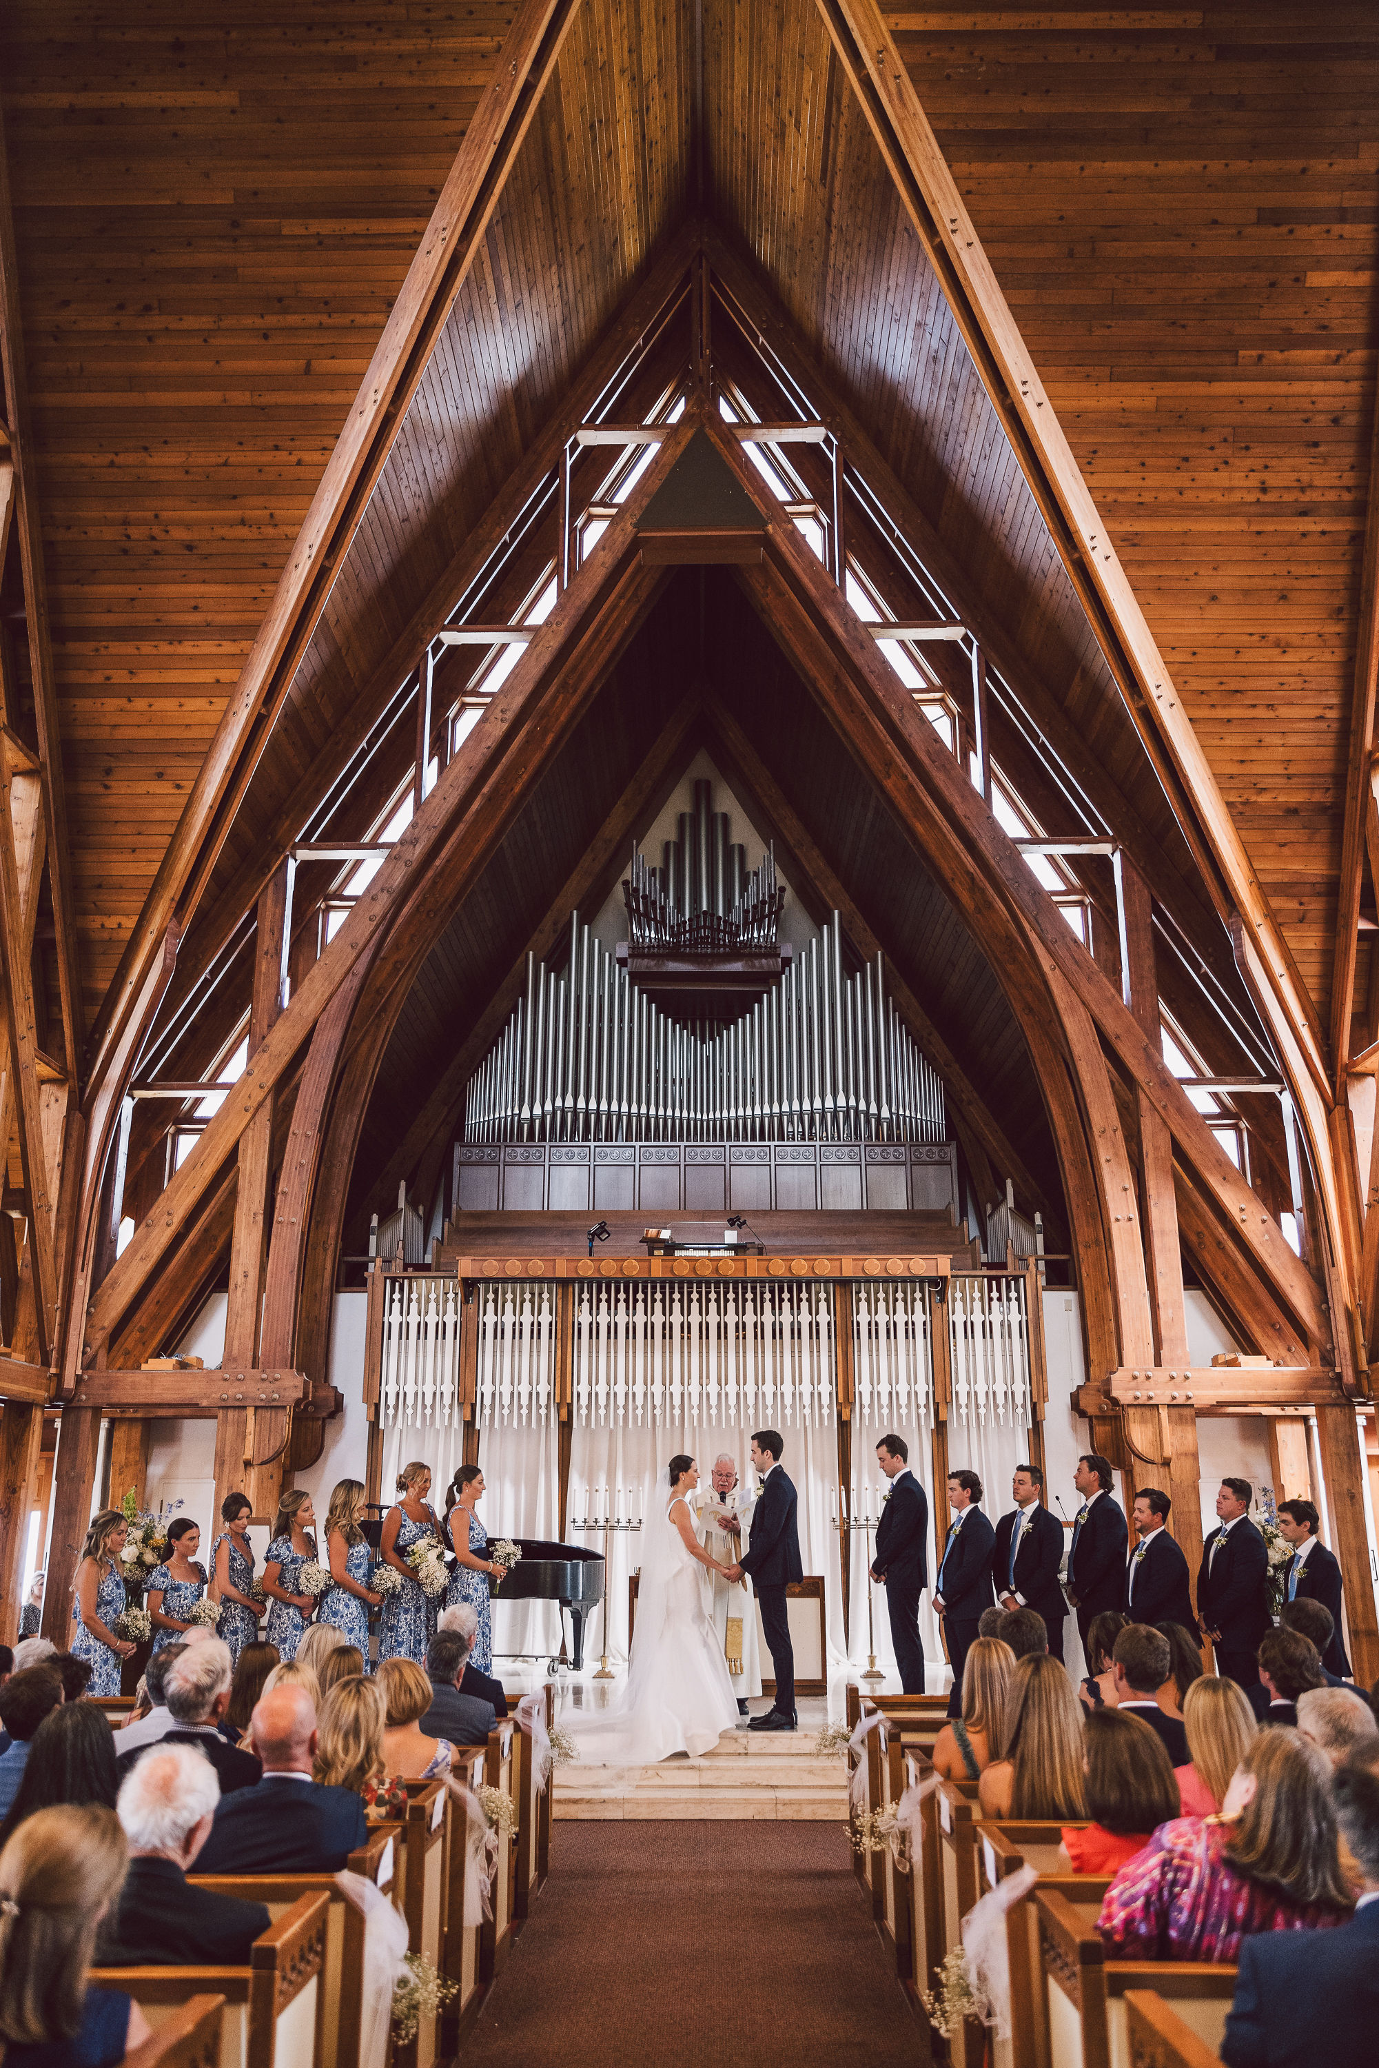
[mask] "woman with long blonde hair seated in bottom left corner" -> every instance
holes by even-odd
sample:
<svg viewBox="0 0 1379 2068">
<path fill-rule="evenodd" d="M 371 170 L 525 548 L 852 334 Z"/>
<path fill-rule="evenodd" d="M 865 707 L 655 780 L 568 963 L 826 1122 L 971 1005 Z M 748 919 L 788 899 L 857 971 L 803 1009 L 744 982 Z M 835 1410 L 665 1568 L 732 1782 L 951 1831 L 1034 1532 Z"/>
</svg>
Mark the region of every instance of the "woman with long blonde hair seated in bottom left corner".
<svg viewBox="0 0 1379 2068">
<path fill-rule="evenodd" d="M 39 1810 L 0 1853 L 4 2068 L 116 2068 L 151 2037 L 124 1989 L 93 1989 L 95 1934 L 128 1855 L 114 1810 Z"/>
</svg>

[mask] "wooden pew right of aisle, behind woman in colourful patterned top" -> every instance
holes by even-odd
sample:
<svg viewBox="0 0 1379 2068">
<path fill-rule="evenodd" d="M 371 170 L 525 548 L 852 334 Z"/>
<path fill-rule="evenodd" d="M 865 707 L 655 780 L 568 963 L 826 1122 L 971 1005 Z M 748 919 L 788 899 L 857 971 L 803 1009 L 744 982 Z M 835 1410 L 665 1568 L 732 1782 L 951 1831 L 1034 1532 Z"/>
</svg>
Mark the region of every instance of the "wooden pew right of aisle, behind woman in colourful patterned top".
<svg viewBox="0 0 1379 2068">
<path fill-rule="evenodd" d="M 1207 1960 L 1108 1960 L 1096 1909 L 1036 1890 L 1048 1996 L 1050 2068 L 1131 2068 L 1127 1994 L 1150 1989 L 1212 2051 L 1220 2051 L 1236 1969 Z"/>
</svg>

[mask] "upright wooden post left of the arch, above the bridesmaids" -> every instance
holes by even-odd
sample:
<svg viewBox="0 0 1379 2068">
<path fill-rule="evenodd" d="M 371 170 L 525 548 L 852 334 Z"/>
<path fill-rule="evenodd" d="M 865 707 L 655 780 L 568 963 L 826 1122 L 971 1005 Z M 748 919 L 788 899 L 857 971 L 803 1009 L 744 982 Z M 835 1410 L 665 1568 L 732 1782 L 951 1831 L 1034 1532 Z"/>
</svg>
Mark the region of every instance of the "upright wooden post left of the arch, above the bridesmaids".
<svg viewBox="0 0 1379 2068">
<path fill-rule="evenodd" d="M 248 1061 L 267 1040 L 283 1009 L 287 978 L 287 926 L 292 908 L 289 860 L 279 862 L 258 895 L 258 937 L 254 947 L 254 997 L 248 1022 Z M 240 1135 L 234 1235 L 229 1239 L 229 1303 L 225 1309 L 225 1371 L 258 1361 L 263 1278 L 269 1255 L 269 1187 L 273 1181 L 273 1111 L 269 1096 Z M 261 1427 L 263 1421 L 263 1427 Z M 273 1462 L 256 1464 L 285 1437 L 281 1417 L 250 1408 L 229 1408 L 215 1427 L 215 1514 L 227 1493 L 244 1491 L 258 1520 L 273 1520 L 281 1491 L 281 1450 Z"/>
</svg>

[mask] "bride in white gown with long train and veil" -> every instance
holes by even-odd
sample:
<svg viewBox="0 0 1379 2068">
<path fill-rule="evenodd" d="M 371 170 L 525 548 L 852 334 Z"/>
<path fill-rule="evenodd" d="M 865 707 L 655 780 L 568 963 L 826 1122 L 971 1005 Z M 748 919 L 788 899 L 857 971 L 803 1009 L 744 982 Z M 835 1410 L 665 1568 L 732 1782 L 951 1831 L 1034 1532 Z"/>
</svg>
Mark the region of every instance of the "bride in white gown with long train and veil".
<svg viewBox="0 0 1379 2068">
<path fill-rule="evenodd" d="M 709 1752 L 738 1727 L 738 1698 L 709 1613 L 705 1565 L 728 1572 L 701 1547 L 686 1495 L 699 1485 L 693 1458 L 678 1456 L 655 1481 L 641 1534 L 637 1625 L 626 1685 L 597 1716 L 560 1721 L 595 1766 L 649 1766 L 672 1752 Z"/>
</svg>

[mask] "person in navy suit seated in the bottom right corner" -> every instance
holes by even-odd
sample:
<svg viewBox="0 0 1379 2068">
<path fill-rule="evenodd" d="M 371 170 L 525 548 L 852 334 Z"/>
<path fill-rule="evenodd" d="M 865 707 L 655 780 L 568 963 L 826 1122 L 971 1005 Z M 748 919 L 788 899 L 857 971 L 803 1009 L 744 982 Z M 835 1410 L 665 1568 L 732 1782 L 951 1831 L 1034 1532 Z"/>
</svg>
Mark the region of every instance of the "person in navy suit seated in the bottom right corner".
<svg viewBox="0 0 1379 2068">
<path fill-rule="evenodd" d="M 1226 2068 L 1371 2068 L 1379 2029 L 1379 1758 L 1346 1760 L 1331 1778 L 1336 1822 L 1360 1872 L 1354 1917 L 1325 1938 L 1274 1932 L 1240 1946 L 1226 2018 Z"/>
</svg>

